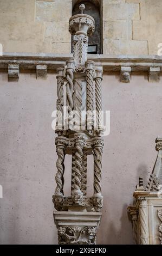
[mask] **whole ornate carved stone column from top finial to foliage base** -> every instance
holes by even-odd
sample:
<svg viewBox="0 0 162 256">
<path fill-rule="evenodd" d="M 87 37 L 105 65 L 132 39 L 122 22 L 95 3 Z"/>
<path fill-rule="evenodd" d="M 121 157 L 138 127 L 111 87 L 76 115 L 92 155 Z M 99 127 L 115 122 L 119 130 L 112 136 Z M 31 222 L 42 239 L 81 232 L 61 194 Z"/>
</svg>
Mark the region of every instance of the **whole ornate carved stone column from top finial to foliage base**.
<svg viewBox="0 0 162 256">
<path fill-rule="evenodd" d="M 57 111 L 62 111 L 63 106 L 63 80 L 66 81 L 66 105 L 68 108 L 66 127 L 63 127 L 66 132 L 61 133 L 56 130 L 58 135 L 56 138 L 57 186 L 53 203 L 57 210 L 54 211 L 54 220 L 58 229 L 60 245 L 94 245 L 103 205 L 101 194 L 103 139 L 99 133 L 96 135 L 93 125 L 94 71 L 96 69 L 96 108 L 99 112 L 102 110 L 102 69 L 95 68 L 94 62 L 87 60 L 88 36 L 94 32 L 94 19 L 83 14 L 84 9 L 85 5 L 81 4 L 81 14 L 74 15 L 69 20 L 69 32 L 74 35 L 74 56 L 73 60 L 67 60 L 66 66 L 64 66 L 66 77 L 63 77 L 63 69 L 58 70 L 59 75 L 57 76 Z M 86 111 L 87 119 L 85 113 L 82 115 L 82 111 Z M 59 119 L 61 113 L 58 114 Z M 82 116 L 84 116 L 83 119 Z M 90 125 L 92 127 L 89 127 L 89 123 L 92 124 Z M 66 154 L 72 157 L 70 195 L 63 193 L 64 156 Z M 94 194 L 91 197 L 87 197 L 87 168 L 92 168 L 87 166 L 89 155 L 94 155 L 94 171 L 90 170 L 92 178 L 94 178 Z"/>
</svg>

